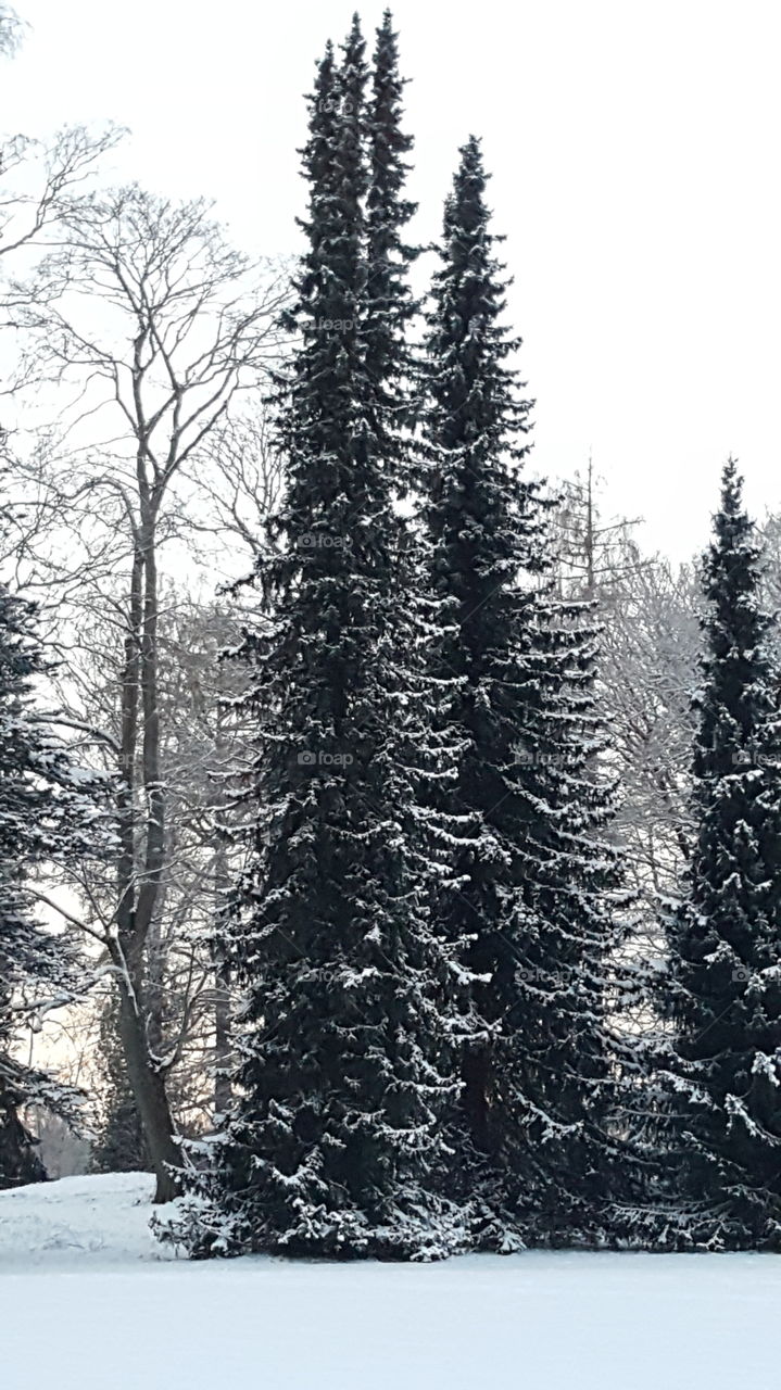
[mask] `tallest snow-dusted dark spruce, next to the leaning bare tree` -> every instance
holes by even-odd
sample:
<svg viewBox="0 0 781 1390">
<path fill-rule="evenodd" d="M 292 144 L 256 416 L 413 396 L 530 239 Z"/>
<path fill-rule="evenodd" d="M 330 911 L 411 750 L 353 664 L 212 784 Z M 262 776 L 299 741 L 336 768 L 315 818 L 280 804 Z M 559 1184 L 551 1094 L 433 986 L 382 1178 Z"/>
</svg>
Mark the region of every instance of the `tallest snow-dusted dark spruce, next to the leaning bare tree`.
<svg viewBox="0 0 781 1390">
<path fill-rule="evenodd" d="M 195 1255 L 407 1258 L 461 1240 L 439 1190 L 453 960 L 428 915 L 403 756 L 420 703 L 388 456 L 403 217 L 377 190 L 372 242 L 367 150 L 382 122 L 375 103 L 370 133 L 365 81 L 356 19 L 340 67 L 331 49 L 318 67 L 304 150 L 281 555 L 258 571 L 271 613 L 242 652 L 258 744 L 231 940 L 246 991 L 238 1099 L 171 1227 Z"/>
</svg>

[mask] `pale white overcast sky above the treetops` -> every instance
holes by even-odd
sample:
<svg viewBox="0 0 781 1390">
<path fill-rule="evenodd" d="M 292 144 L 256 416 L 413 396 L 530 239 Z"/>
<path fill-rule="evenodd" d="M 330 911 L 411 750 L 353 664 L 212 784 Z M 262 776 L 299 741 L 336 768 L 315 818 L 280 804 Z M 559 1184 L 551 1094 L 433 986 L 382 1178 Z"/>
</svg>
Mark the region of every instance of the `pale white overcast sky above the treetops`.
<svg viewBox="0 0 781 1390">
<path fill-rule="evenodd" d="M 214 197 L 235 238 L 296 246 L 302 93 L 336 0 L 15 0 L 0 128 L 111 118 L 118 178 Z M 364 4 L 374 31 L 381 4 Z M 646 543 L 699 548 L 730 450 L 781 506 L 781 6 L 397 0 L 417 235 L 484 136 L 536 399 L 535 466 L 582 467 Z"/>
</svg>

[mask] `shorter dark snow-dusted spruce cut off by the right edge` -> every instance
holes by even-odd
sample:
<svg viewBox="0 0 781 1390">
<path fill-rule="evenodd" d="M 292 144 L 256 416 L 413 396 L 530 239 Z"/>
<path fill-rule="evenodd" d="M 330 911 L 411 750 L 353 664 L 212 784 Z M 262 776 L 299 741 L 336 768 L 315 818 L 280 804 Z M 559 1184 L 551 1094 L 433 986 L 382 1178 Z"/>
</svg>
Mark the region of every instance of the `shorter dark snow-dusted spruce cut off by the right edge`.
<svg viewBox="0 0 781 1390">
<path fill-rule="evenodd" d="M 695 834 L 668 920 L 661 1008 L 666 1238 L 781 1248 L 781 723 L 762 549 L 734 460 L 703 566 Z"/>
</svg>

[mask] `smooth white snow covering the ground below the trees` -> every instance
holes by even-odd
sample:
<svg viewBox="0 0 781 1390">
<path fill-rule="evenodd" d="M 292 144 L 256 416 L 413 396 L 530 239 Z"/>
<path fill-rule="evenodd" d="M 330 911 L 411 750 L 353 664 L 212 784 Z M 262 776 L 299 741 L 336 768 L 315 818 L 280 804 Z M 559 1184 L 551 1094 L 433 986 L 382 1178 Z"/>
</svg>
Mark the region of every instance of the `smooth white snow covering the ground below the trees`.
<svg viewBox="0 0 781 1390">
<path fill-rule="evenodd" d="M 0 1194 L 3 1390 L 778 1390 L 771 1255 L 188 1264 L 147 1177 Z"/>
</svg>

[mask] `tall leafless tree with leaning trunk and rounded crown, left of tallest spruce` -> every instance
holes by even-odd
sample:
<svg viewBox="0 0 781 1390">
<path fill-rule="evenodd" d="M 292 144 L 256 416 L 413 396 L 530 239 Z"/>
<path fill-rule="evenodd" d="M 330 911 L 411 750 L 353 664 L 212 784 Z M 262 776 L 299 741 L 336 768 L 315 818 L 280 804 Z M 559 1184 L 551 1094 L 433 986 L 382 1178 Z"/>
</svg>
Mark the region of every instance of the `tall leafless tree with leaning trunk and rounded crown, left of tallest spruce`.
<svg viewBox="0 0 781 1390">
<path fill-rule="evenodd" d="M 24 375 L 75 388 L 58 486 L 71 523 L 83 521 L 79 602 L 83 609 L 89 598 L 121 649 L 115 727 L 71 720 L 111 751 L 117 773 L 114 906 L 106 915 L 85 902 L 83 924 L 106 944 L 117 976 L 128 1073 L 164 1201 L 181 1154 L 165 1091 L 171 1059 L 156 1052 L 145 972 L 170 853 L 160 556 L 167 546 L 174 566 L 176 555 L 186 563 L 176 550 L 192 488 L 185 466 L 272 361 L 285 281 L 229 247 L 202 202 L 172 204 L 133 186 L 75 203 L 61 225 L 60 245 L 19 286 Z M 93 555 L 103 578 L 90 569 Z"/>
</svg>

